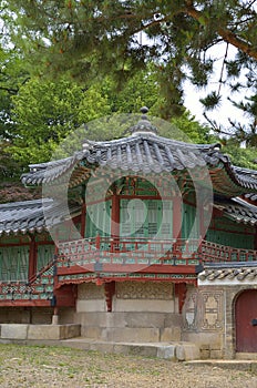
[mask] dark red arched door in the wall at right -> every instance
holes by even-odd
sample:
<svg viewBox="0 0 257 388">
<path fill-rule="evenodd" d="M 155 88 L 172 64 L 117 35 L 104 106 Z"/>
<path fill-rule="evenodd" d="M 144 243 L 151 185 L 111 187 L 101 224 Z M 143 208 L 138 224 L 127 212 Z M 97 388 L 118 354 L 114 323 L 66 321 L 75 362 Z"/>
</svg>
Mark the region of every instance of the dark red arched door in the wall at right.
<svg viewBox="0 0 257 388">
<path fill-rule="evenodd" d="M 236 351 L 257 353 L 257 289 L 243 292 L 235 308 Z"/>
</svg>

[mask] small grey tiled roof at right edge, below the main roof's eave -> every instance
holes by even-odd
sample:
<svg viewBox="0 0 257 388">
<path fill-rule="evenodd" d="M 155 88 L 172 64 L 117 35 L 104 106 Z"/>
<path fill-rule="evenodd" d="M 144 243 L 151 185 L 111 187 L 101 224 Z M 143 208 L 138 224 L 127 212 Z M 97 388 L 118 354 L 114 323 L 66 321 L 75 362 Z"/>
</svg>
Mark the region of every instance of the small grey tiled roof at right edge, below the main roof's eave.
<svg viewBox="0 0 257 388">
<path fill-rule="evenodd" d="M 214 206 L 223 210 L 224 215 L 236 221 L 249 225 L 257 225 L 257 206 L 236 197 L 230 201 L 215 201 Z"/>
</svg>

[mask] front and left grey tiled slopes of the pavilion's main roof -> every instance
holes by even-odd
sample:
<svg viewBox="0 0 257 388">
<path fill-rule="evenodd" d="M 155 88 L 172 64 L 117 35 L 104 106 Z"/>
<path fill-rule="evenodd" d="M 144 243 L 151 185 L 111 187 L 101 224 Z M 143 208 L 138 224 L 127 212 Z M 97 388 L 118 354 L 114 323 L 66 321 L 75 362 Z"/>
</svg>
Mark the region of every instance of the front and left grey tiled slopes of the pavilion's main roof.
<svg viewBox="0 0 257 388">
<path fill-rule="evenodd" d="M 54 181 L 82 160 L 89 166 L 101 165 L 147 174 L 194 169 L 206 163 L 216 165 L 220 157 L 217 144 L 187 144 L 152 133 L 135 133 L 109 142 L 88 142 L 86 145 L 82 152 L 65 160 L 30 165 L 30 173 L 22 176 L 22 182 L 42 184 Z"/>
</svg>

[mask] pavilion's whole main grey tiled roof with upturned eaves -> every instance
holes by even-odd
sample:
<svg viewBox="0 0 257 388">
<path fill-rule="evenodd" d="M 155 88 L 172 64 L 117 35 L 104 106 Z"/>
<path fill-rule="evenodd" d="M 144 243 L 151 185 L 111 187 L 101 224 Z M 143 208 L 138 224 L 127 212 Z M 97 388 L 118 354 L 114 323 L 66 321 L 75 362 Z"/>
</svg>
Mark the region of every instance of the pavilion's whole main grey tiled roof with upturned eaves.
<svg viewBox="0 0 257 388">
<path fill-rule="evenodd" d="M 22 182 L 38 185 L 62 182 L 69 177 L 72 186 L 81 183 L 94 166 L 134 174 L 207 166 L 216 192 L 230 196 L 257 192 L 257 172 L 233 166 L 219 149 L 219 144 L 189 144 L 151 132 L 135 132 L 128 137 L 113 141 L 88 141 L 84 150 L 71 157 L 30 165 L 30 172 L 22 176 Z"/>
</svg>

